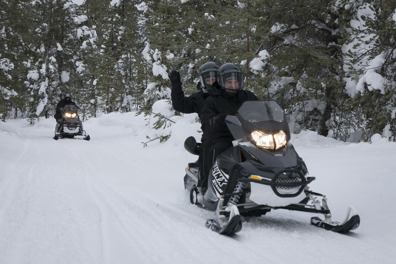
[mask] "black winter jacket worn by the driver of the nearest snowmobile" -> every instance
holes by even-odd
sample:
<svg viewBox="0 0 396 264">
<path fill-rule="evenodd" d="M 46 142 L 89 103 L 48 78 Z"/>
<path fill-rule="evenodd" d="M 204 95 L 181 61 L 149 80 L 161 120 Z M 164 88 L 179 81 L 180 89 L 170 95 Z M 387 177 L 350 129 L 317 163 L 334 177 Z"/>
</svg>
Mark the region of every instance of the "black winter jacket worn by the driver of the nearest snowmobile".
<svg viewBox="0 0 396 264">
<path fill-rule="evenodd" d="M 201 128 L 204 132 L 202 141 L 210 136 L 213 140 L 218 138 L 234 140 L 224 119 L 216 118 L 216 116 L 219 114 L 236 115 L 244 101 L 256 101 L 258 98 L 248 90 L 240 90 L 236 94 L 230 94 L 221 88 L 217 88 L 215 84 L 209 90 L 210 96 L 206 99 L 201 113 Z"/>
</svg>

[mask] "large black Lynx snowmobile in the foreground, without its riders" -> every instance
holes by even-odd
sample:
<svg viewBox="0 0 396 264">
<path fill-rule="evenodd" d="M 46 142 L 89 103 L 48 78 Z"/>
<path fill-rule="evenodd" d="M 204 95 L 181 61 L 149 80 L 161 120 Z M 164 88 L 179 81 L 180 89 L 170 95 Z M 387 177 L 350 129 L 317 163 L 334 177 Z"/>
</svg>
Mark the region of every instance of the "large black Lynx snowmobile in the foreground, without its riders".
<svg viewBox="0 0 396 264">
<path fill-rule="evenodd" d="M 275 101 L 246 101 L 236 116 L 225 122 L 234 136 L 233 146 L 217 156 L 209 174 L 208 189 L 196 187 L 198 163 L 186 168 L 185 188 L 190 202 L 215 211 L 206 227 L 225 235 L 242 229 L 242 216 L 261 216 L 275 209 L 324 214 L 312 217 L 314 226 L 338 233 L 358 228 L 360 217 L 348 208 L 343 222 L 331 219 L 326 195 L 311 191 L 305 162 L 289 142 L 286 114 Z M 194 137 L 185 141 L 188 152 L 199 155 Z M 322 203 L 320 199 L 322 197 Z"/>
</svg>

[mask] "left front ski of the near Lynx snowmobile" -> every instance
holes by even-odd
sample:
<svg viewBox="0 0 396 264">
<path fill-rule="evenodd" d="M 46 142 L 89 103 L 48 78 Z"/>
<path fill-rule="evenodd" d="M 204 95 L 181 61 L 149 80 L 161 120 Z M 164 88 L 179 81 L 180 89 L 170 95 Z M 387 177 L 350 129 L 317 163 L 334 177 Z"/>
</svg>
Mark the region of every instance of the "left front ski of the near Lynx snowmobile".
<svg viewBox="0 0 396 264">
<path fill-rule="evenodd" d="M 223 210 L 223 203 L 224 199 L 221 198 L 217 204 L 217 220 L 208 219 L 205 226 L 222 235 L 233 235 L 234 233 L 238 233 L 242 229 L 242 220 L 238 207 L 235 205 L 228 205 L 225 210 Z"/>
</svg>

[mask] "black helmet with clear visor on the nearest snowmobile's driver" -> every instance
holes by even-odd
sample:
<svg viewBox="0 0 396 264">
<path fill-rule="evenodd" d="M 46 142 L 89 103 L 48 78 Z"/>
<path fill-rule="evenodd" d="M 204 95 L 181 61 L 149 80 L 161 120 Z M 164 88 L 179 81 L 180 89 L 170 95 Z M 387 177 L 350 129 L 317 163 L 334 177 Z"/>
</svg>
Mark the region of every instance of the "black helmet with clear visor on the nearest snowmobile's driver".
<svg viewBox="0 0 396 264">
<path fill-rule="evenodd" d="M 221 65 L 217 72 L 217 82 L 226 91 L 242 90 L 244 87 L 244 74 L 234 63 Z"/>
</svg>

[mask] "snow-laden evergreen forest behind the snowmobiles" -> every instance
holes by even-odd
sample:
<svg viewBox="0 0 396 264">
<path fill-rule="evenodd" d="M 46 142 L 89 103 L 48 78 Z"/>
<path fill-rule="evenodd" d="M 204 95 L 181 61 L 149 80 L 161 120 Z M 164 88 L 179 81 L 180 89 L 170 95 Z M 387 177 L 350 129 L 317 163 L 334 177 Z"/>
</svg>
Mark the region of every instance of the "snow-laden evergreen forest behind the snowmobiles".
<svg viewBox="0 0 396 264">
<path fill-rule="evenodd" d="M 0 118 L 52 118 L 60 92 L 83 121 L 173 111 L 171 69 L 188 95 L 203 63 L 233 62 L 295 133 L 396 141 L 395 38 L 392 0 L 2 0 Z"/>
</svg>

